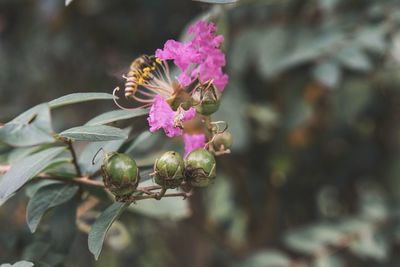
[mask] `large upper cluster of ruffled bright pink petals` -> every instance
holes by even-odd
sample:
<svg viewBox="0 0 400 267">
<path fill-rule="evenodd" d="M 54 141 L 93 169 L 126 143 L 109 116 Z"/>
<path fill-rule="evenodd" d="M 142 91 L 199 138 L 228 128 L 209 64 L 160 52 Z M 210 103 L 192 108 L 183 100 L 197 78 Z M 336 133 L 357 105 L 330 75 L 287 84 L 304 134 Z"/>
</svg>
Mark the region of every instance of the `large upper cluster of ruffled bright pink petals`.
<svg viewBox="0 0 400 267">
<path fill-rule="evenodd" d="M 188 34 L 193 35 L 191 40 L 168 40 L 155 55 L 162 60 L 174 60 L 174 64 L 182 70 L 177 78 L 182 86 L 188 86 L 196 79 L 203 84 L 213 80 L 222 92 L 228 83 L 228 75 L 222 71 L 225 55 L 219 49 L 224 37 L 216 35 L 215 31 L 213 23 L 200 20 L 189 27 Z"/>
</svg>

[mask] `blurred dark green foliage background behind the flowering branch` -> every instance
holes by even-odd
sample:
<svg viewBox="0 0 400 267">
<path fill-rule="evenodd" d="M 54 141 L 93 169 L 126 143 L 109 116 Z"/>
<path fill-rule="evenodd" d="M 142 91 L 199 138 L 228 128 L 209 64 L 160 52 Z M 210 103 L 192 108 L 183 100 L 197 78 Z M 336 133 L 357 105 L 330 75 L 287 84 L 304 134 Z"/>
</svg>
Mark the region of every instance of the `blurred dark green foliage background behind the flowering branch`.
<svg viewBox="0 0 400 267">
<path fill-rule="evenodd" d="M 124 213 L 97 262 L 78 221 L 58 266 L 400 266 L 399 1 L 0 0 L 0 122 L 68 93 L 111 92 L 135 57 L 199 17 L 225 36 L 230 83 L 215 118 L 229 123 L 233 153 L 190 201 Z M 55 128 L 113 108 L 62 109 Z M 52 266 L 56 235 L 30 234 L 26 201 L 0 208 L 0 262 Z"/>
</svg>

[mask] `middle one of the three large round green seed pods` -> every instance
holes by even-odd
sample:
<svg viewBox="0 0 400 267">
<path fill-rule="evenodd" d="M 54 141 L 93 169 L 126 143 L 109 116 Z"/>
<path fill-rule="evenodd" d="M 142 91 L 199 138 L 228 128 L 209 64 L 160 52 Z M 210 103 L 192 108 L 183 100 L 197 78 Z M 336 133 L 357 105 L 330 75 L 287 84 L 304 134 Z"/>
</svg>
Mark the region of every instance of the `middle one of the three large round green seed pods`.
<svg viewBox="0 0 400 267">
<path fill-rule="evenodd" d="M 183 181 L 184 169 L 182 156 L 178 152 L 165 152 L 154 164 L 154 181 L 164 188 L 176 188 Z"/>
</svg>

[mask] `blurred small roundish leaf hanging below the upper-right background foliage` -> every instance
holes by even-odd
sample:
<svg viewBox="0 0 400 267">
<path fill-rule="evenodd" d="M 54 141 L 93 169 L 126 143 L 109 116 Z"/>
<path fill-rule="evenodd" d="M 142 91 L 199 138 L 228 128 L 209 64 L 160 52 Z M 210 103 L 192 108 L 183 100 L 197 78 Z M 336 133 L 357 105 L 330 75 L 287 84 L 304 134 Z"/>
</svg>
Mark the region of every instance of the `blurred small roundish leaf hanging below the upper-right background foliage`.
<svg viewBox="0 0 400 267">
<path fill-rule="evenodd" d="M 339 64 L 332 60 L 316 65 L 312 70 L 312 75 L 317 81 L 330 88 L 337 87 L 342 76 Z"/>
</svg>

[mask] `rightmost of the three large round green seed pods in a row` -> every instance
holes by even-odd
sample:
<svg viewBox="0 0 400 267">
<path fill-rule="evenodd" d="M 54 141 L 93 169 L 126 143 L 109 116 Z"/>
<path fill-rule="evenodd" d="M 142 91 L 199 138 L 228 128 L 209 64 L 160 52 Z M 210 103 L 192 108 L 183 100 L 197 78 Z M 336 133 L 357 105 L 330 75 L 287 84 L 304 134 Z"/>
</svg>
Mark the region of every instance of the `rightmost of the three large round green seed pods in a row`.
<svg viewBox="0 0 400 267">
<path fill-rule="evenodd" d="M 215 157 L 208 150 L 198 148 L 185 159 L 185 176 L 190 185 L 205 187 L 216 177 Z"/>
</svg>

